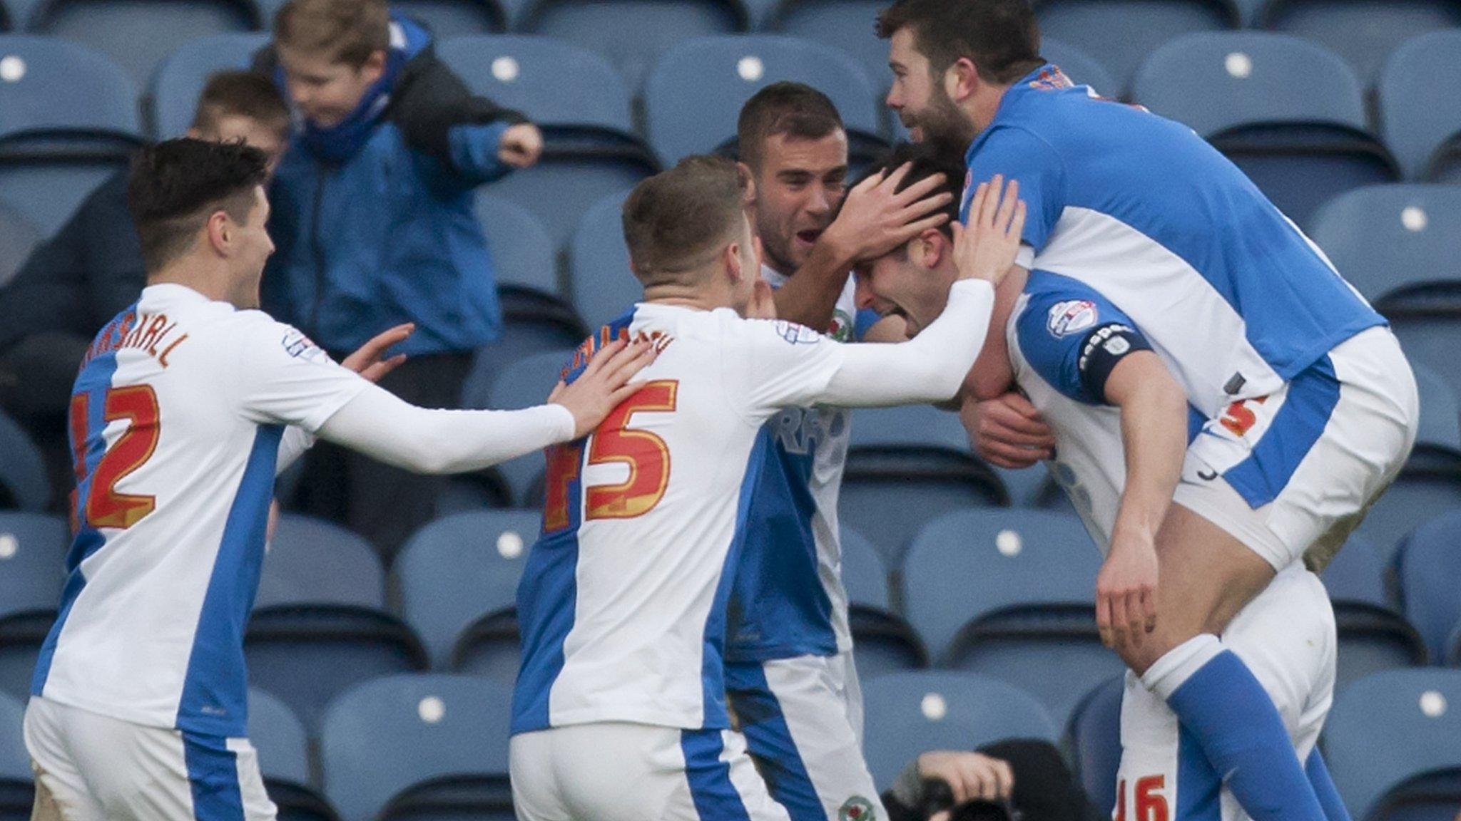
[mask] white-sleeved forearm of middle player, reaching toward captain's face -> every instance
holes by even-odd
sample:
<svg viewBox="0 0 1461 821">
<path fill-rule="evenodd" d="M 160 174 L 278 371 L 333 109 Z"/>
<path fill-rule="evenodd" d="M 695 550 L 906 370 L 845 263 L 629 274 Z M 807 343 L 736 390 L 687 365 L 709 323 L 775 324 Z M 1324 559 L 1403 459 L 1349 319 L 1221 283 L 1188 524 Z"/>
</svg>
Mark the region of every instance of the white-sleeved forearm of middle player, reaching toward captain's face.
<svg viewBox="0 0 1461 821">
<path fill-rule="evenodd" d="M 849 345 L 820 402 L 878 408 L 951 399 L 979 356 L 993 304 L 995 292 L 988 282 L 955 282 L 948 307 L 913 339 L 897 345 Z"/>
</svg>

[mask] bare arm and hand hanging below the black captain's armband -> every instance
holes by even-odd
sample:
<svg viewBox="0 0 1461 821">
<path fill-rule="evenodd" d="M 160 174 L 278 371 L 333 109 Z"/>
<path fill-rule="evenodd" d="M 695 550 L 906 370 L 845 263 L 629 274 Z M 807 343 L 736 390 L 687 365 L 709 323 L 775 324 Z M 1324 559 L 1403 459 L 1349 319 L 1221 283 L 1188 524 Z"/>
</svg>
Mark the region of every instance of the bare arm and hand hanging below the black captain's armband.
<svg viewBox="0 0 1461 821">
<path fill-rule="evenodd" d="M 1140 647 L 1157 625 L 1157 529 L 1167 516 L 1186 457 L 1186 393 L 1151 351 L 1137 351 L 1106 378 L 1121 409 L 1126 485 L 1096 577 L 1096 627 L 1110 647 Z"/>
</svg>

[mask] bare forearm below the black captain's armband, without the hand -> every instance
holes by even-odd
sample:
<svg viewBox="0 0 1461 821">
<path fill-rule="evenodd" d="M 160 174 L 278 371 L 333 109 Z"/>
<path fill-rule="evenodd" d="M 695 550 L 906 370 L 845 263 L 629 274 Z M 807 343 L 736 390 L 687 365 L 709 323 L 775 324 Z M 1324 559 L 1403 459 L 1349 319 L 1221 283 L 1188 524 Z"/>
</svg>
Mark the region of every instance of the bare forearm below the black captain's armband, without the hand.
<svg viewBox="0 0 1461 821">
<path fill-rule="evenodd" d="M 1160 377 L 1153 374 L 1122 392 L 1118 406 L 1126 485 L 1113 532 L 1154 539 L 1186 459 L 1186 394 L 1161 368 Z"/>
</svg>

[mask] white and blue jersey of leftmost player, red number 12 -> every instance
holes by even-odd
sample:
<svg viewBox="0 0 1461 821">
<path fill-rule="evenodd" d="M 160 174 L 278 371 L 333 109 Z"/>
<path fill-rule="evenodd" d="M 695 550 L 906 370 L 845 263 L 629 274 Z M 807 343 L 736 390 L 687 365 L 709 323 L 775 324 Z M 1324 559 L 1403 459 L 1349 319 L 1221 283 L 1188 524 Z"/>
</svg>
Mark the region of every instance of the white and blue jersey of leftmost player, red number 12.
<svg viewBox="0 0 1461 821">
<path fill-rule="evenodd" d="M 283 435 L 270 413 L 279 384 L 260 373 L 294 359 L 329 364 L 288 326 L 181 285 L 146 288 L 96 336 L 70 406 L 70 576 L 34 694 L 140 725 L 244 735 L 243 630 Z M 333 371 L 323 381 L 336 383 L 336 399 L 311 427 L 364 386 Z"/>
</svg>

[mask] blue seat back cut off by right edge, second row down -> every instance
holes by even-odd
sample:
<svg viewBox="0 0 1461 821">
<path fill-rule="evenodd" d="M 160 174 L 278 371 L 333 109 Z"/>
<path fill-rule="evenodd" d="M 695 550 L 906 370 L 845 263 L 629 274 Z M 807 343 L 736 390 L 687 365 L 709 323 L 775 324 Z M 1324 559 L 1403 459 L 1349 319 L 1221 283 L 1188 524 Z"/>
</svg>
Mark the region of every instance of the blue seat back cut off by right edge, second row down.
<svg viewBox="0 0 1461 821">
<path fill-rule="evenodd" d="M 1436 152 L 1461 134 L 1461 111 L 1448 88 L 1461 83 L 1461 31 L 1414 37 L 1397 48 L 1379 76 L 1379 121 L 1405 177 L 1433 171 Z"/>
</svg>

